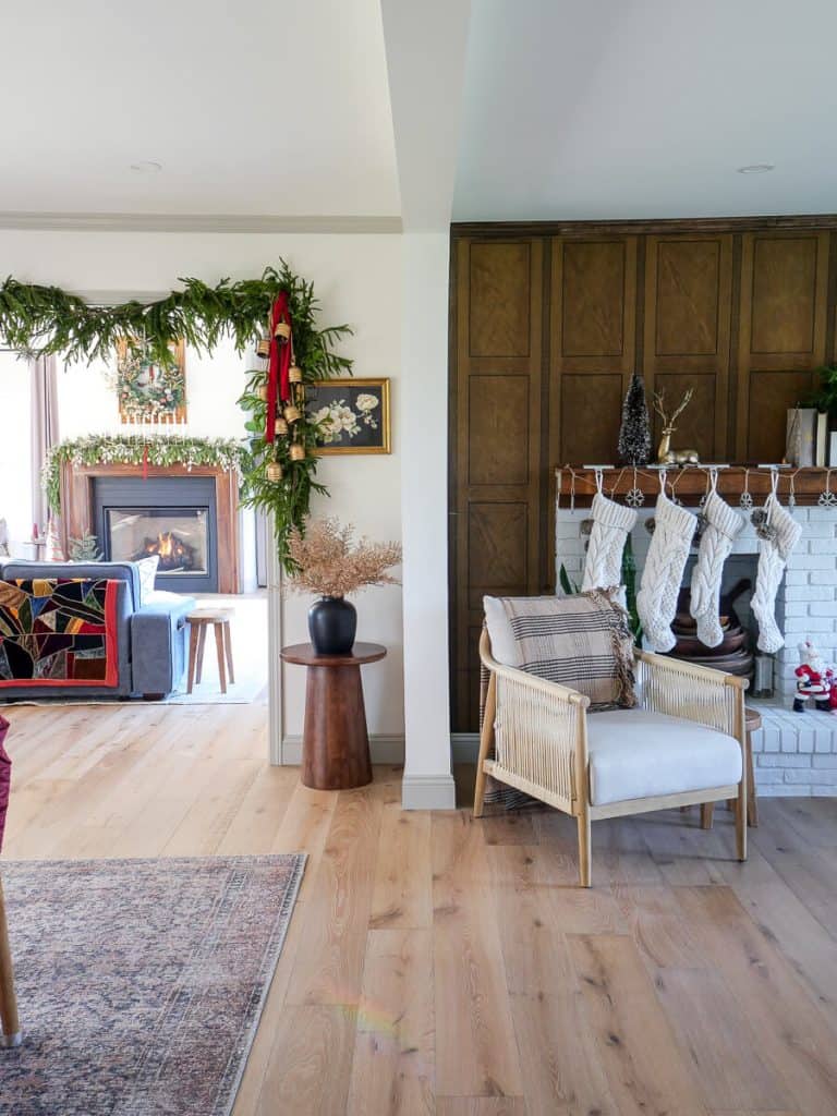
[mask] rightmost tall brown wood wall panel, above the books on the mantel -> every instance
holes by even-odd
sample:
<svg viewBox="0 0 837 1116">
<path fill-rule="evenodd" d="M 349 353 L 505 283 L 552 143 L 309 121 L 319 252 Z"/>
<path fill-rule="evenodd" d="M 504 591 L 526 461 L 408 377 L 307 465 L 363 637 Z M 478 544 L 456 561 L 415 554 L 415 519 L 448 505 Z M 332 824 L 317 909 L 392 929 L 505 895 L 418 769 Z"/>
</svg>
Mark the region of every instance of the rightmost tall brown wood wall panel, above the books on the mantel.
<svg viewBox="0 0 837 1116">
<path fill-rule="evenodd" d="M 787 408 L 825 362 L 828 233 L 748 232 L 741 248 L 737 455 L 781 461 Z"/>
</svg>

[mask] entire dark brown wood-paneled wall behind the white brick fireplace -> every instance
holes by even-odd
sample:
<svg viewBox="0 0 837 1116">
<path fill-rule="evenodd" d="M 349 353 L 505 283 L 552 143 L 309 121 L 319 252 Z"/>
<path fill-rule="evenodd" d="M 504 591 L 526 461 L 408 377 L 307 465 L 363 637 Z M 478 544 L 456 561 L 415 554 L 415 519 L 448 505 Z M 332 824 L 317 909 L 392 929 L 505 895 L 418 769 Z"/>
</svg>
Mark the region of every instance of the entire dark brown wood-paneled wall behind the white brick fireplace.
<svg viewBox="0 0 837 1116">
<path fill-rule="evenodd" d="M 615 461 L 634 369 L 650 396 L 694 389 L 675 445 L 781 458 L 787 407 L 837 356 L 837 218 L 454 225 L 451 269 L 452 724 L 468 732 L 482 596 L 554 590 L 554 468 Z"/>
</svg>

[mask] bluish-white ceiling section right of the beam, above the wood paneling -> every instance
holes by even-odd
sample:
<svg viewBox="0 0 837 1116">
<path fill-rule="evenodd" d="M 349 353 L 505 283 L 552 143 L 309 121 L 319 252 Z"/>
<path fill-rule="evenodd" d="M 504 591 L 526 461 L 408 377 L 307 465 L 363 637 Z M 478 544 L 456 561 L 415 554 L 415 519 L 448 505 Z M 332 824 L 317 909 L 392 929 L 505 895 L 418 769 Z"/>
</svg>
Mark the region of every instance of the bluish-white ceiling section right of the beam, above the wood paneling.
<svg viewBox="0 0 837 1116">
<path fill-rule="evenodd" d="M 836 41 L 834 0 L 472 0 L 454 220 L 834 212 Z"/>
</svg>

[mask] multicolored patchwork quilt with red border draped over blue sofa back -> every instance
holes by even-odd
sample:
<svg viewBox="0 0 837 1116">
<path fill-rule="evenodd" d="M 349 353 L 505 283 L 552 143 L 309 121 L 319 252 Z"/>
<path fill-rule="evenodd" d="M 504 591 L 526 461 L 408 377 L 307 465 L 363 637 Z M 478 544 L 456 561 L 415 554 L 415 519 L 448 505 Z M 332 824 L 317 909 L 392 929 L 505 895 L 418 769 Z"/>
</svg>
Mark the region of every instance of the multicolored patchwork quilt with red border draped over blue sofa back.
<svg viewBox="0 0 837 1116">
<path fill-rule="evenodd" d="M 118 581 L 0 581 L 0 687 L 116 686 Z"/>
</svg>

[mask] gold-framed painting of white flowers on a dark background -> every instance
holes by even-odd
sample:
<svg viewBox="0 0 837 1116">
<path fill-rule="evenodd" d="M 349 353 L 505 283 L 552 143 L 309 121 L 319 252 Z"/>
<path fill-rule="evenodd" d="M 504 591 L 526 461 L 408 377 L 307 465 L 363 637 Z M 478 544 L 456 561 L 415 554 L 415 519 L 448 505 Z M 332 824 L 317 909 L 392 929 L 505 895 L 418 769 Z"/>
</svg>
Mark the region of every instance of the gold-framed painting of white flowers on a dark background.
<svg viewBox="0 0 837 1116">
<path fill-rule="evenodd" d="M 389 453 L 389 381 L 320 379 L 310 387 L 317 453 Z"/>
</svg>

